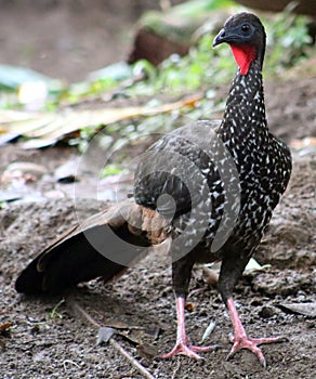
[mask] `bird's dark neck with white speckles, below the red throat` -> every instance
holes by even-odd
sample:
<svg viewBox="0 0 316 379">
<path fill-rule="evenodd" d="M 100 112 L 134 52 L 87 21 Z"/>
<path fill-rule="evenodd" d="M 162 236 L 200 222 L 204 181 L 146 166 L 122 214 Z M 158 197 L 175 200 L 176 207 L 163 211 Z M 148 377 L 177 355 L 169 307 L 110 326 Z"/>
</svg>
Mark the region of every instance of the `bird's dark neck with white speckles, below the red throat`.
<svg viewBox="0 0 316 379">
<path fill-rule="evenodd" d="M 234 135 L 267 134 L 261 62 L 251 63 L 247 75 L 238 68 L 227 97 L 220 132 Z"/>
</svg>

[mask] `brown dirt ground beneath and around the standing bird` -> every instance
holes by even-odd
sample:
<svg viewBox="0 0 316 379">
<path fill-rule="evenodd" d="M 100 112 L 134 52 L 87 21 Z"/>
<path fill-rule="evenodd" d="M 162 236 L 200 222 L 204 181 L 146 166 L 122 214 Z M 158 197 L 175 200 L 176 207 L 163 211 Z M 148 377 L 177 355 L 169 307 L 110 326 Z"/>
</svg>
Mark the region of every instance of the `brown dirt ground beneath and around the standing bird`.
<svg viewBox="0 0 316 379">
<path fill-rule="evenodd" d="M 287 143 L 316 136 L 315 77 L 267 82 L 265 88 L 269 126 L 276 134 Z M 77 158 L 69 147 L 38 152 L 8 145 L 1 147 L 0 155 L 1 172 L 14 161 L 47 168 L 45 174 L 24 186 L 28 194 L 37 193 L 37 201 L 13 201 L 0 210 L 0 327 L 12 323 L 9 331 L 0 332 L 1 378 L 144 378 L 114 344 L 96 344 L 97 327 L 78 305 L 101 326 L 116 327 L 119 332 L 114 340 L 157 379 L 315 378 L 315 311 L 308 315 L 282 306 L 315 306 L 316 302 L 315 148 L 293 149 L 290 186 L 255 254 L 261 264 L 271 266 L 246 272 L 235 291 L 251 337 L 277 335 L 289 340 L 262 347 L 265 370 L 248 351 L 225 360 L 231 349 L 231 322 L 216 291 L 205 283 L 201 267 L 194 270 L 187 330 L 192 340 L 199 342 L 209 323 L 215 322 L 206 343 L 216 344 L 216 349 L 203 353 L 198 362 L 185 356 L 155 357 L 173 347 L 176 327 L 171 269 L 164 256 L 150 254 L 110 285 L 96 279 L 53 298 L 16 293 L 15 278 L 30 259 L 78 218 L 91 215 L 106 204 L 90 196 L 85 178 L 81 183 L 85 199 L 76 201 L 75 212 L 73 184 L 56 183 L 54 177 L 56 167 Z"/>
</svg>

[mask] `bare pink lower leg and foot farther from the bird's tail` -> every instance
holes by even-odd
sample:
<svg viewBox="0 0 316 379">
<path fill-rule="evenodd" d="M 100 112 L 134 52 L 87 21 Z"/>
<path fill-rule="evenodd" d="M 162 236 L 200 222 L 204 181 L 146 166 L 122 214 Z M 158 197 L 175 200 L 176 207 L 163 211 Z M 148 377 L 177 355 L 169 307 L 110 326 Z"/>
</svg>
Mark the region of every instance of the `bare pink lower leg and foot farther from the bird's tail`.
<svg viewBox="0 0 316 379">
<path fill-rule="evenodd" d="M 253 354 L 255 354 L 262 364 L 263 367 L 266 367 L 266 361 L 265 357 L 261 351 L 260 348 L 258 348 L 260 344 L 263 343 L 274 343 L 274 342 L 285 342 L 286 339 L 282 337 L 267 337 L 267 338 L 249 338 L 246 335 L 246 331 L 243 329 L 243 326 L 239 319 L 238 312 L 236 310 L 235 303 L 233 298 L 229 298 L 227 300 L 227 308 L 231 315 L 231 319 L 233 323 L 234 328 L 234 337 L 232 337 L 231 341 L 234 343 L 233 348 L 231 350 L 231 353 L 228 354 L 227 358 L 233 356 L 237 351 L 241 349 L 248 349 Z"/>
</svg>

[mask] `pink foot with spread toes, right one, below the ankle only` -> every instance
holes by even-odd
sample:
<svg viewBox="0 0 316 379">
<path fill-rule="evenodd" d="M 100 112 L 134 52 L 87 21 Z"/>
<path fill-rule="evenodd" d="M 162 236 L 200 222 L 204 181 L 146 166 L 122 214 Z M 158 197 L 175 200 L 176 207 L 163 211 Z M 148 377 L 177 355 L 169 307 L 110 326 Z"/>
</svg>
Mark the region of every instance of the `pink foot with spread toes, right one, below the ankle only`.
<svg viewBox="0 0 316 379">
<path fill-rule="evenodd" d="M 265 368 L 266 361 L 259 345 L 264 343 L 276 343 L 276 342 L 286 342 L 286 341 L 287 341 L 287 338 L 284 338 L 284 337 L 249 338 L 247 336 L 240 336 L 238 338 L 235 338 L 234 336 L 231 336 L 231 342 L 233 342 L 234 344 L 227 356 L 227 360 L 229 360 L 233 355 L 235 355 L 237 351 L 241 349 L 247 349 L 247 350 L 250 350 L 254 355 L 256 355 L 260 363 Z"/>
</svg>

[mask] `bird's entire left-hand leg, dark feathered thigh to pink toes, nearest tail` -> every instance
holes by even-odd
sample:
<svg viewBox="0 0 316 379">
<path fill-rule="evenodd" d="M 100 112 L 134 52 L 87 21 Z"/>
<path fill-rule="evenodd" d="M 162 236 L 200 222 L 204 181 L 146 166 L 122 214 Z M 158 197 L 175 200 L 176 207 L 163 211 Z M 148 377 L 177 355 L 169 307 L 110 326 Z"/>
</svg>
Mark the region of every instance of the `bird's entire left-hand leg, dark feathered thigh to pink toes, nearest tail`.
<svg viewBox="0 0 316 379">
<path fill-rule="evenodd" d="M 192 275 L 193 262 L 189 260 L 179 260 L 172 264 L 172 282 L 176 301 L 176 341 L 174 348 L 167 354 L 161 355 L 163 358 L 170 358 L 176 354 L 184 354 L 192 358 L 199 360 L 199 352 L 206 352 L 212 347 L 196 347 L 190 344 L 185 330 L 185 299 L 187 295 L 188 284 Z"/>
</svg>

